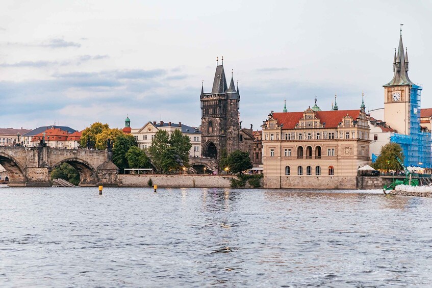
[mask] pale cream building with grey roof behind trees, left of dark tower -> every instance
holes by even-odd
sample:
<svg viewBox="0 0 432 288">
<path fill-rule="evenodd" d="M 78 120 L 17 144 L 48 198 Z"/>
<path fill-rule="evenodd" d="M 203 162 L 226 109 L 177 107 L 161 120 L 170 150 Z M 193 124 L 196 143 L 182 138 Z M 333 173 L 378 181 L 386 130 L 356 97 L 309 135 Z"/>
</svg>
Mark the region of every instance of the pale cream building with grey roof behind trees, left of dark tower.
<svg viewBox="0 0 432 288">
<path fill-rule="evenodd" d="M 192 148 L 189 151 L 189 155 L 199 157 L 201 155 L 201 132 L 195 127 L 182 124 L 182 122 L 147 122 L 141 128 L 132 128 L 131 134 L 135 137 L 138 147 L 146 149 L 151 146 L 151 140 L 153 140 L 158 130 L 165 130 L 168 134 L 171 134 L 174 130 L 179 129 L 182 131 L 183 135 L 187 135 L 191 140 Z"/>
</svg>

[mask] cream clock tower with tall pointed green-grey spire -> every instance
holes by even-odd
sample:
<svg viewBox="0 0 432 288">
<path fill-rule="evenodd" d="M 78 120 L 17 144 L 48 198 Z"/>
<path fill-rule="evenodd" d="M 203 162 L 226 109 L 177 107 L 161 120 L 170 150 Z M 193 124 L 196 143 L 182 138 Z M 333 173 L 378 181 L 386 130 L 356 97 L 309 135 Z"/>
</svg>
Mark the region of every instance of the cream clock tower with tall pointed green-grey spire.
<svg viewBox="0 0 432 288">
<path fill-rule="evenodd" d="M 403 49 L 402 30 L 395 48 L 393 72 L 392 81 L 384 85 L 384 121 L 397 133 L 410 135 L 419 128 L 421 87 L 408 77 L 408 51 Z"/>
</svg>

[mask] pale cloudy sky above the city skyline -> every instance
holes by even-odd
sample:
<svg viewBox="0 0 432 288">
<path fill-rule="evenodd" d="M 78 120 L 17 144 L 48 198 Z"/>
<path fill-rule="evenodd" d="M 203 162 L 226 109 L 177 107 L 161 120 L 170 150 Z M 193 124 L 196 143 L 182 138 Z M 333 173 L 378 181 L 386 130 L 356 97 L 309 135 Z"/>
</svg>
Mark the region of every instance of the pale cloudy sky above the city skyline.
<svg viewBox="0 0 432 288">
<path fill-rule="evenodd" d="M 0 127 L 201 123 L 216 57 L 239 81 L 243 127 L 271 110 L 384 106 L 400 23 L 432 107 L 430 1 L 0 2 Z"/>
</svg>

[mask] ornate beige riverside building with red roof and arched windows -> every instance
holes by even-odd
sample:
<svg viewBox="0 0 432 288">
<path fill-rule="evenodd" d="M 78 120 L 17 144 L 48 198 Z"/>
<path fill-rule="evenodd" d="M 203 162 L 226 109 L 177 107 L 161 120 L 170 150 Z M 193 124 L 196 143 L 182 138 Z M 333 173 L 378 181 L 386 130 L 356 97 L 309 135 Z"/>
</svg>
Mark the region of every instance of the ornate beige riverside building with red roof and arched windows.
<svg viewBox="0 0 432 288">
<path fill-rule="evenodd" d="M 265 188 L 355 189 L 358 168 L 370 163 L 369 125 L 359 110 L 268 115 L 263 127 Z M 284 110 L 286 111 L 286 110 Z"/>
</svg>

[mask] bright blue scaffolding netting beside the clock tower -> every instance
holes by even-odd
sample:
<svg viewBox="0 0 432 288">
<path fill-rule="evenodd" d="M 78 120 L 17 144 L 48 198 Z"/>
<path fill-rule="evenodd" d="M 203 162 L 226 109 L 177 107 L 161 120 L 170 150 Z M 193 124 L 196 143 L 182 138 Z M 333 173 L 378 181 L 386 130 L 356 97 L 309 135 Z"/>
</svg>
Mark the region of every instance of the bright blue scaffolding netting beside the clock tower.
<svg viewBox="0 0 432 288">
<path fill-rule="evenodd" d="M 410 134 L 393 134 L 390 142 L 402 147 L 405 166 L 432 167 L 432 138 L 430 133 L 422 132 L 420 127 L 420 93 L 422 87 L 411 87 Z"/>
</svg>

